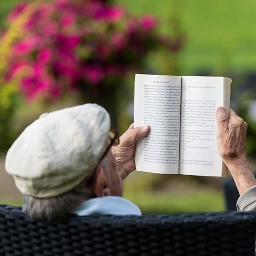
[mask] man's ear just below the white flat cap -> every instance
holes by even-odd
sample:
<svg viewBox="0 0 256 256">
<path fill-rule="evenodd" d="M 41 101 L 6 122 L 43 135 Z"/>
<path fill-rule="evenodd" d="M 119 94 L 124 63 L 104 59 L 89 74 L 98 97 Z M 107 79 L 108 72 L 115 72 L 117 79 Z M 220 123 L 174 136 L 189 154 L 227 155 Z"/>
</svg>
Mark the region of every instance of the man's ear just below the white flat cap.
<svg viewBox="0 0 256 256">
<path fill-rule="evenodd" d="M 96 197 L 110 196 L 108 179 L 102 167 L 98 168 L 92 184 L 93 195 Z"/>
</svg>

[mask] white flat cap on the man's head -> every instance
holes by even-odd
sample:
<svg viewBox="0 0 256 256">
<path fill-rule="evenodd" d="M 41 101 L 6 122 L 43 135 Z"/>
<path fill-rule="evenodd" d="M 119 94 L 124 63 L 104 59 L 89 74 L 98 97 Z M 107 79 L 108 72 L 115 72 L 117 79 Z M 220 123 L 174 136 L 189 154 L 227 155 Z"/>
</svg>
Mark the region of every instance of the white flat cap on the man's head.
<svg viewBox="0 0 256 256">
<path fill-rule="evenodd" d="M 6 171 L 23 194 L 61 195 L 93 171 L 109 129 L 109 114 L 97 104 L 44 113 L 10 147 Z"/>
</svg>

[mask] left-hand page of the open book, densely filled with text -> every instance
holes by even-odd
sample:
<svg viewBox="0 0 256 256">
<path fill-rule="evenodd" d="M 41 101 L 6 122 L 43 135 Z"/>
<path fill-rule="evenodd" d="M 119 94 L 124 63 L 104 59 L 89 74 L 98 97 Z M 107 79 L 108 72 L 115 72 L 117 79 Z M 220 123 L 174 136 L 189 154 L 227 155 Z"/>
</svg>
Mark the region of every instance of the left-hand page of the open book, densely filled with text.
<svg viewBox="0 0 256 256">
<path fill-rule="evenodd" d="M 180 93 L 180 76 L 135 76 L 134 126 L 150 125 L 147 137 L 137 141 L 137 171 L 178 173 Z"/>
</svg>

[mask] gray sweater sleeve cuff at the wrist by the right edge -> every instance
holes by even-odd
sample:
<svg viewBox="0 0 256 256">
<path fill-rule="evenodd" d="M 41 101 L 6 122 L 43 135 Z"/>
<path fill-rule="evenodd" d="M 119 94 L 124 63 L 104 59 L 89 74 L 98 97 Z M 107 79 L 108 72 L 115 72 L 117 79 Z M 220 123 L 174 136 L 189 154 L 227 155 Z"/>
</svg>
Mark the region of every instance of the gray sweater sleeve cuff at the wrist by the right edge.
<svg viewBox="0 0 256 256">
<path fill-rule="evenodd" d="M 256 211 L 256 185 L 250 187 L 237 200 L 238 212 Z"/>
</svg>

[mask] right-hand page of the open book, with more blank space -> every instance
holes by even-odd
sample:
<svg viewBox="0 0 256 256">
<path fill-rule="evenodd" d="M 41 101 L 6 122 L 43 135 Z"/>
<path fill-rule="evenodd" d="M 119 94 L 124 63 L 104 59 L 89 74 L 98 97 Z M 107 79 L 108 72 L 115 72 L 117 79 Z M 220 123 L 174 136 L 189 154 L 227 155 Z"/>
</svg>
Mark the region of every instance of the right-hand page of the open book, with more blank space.
<svg viewBox="0 0 256 256">
<path fill-rule="evenodd" d="M 225 77 L 182 77 L 180 174 L 226 175 L 217 150 L 216 108 L 229 109 L 230 83 Z"/>
</svg>

